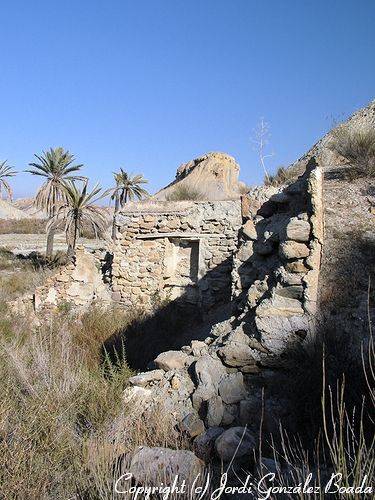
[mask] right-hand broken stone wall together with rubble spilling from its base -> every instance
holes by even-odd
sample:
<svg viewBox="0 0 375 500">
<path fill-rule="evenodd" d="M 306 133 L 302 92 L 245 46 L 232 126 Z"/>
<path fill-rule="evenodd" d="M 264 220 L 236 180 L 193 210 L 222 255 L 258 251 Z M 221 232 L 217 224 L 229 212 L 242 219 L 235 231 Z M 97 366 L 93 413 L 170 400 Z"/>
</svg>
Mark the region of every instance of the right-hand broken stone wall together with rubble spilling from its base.
<svg viewBox="0 0 375 500">
<path fill-rule="evenodd" d="M 159 354 L 155 369 L 132 377 L 125 390 L 125 401 L 142 411 L 163 401 L 201 458 L 216 451 L 225 460 L 226 450 L 232 457 L 241 436 L 256 438 L 261 419 L 267 432 L 293 420 L 280 368 L 288 349 L 314 333 L 321 181 L 311 160 L 286 189 L 250 193 L 232 270 L 233 317 L 203 341 Z"/>
</svg>

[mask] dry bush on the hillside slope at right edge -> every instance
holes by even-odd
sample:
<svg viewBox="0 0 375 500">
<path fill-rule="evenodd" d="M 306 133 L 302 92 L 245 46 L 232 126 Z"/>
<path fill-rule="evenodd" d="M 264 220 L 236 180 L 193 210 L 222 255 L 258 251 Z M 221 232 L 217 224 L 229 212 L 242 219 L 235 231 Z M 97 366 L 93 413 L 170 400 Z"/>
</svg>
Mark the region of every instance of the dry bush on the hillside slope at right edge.
<svg viewBox="0 0 375 500">
<path fill-rule="evenodd" d="M 328 147 L 350 163 L 350 178 L 375 177 L 375 127 L 341 125 L 333 130 Z"/>
</svg>

